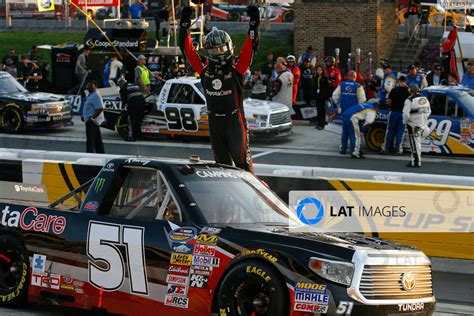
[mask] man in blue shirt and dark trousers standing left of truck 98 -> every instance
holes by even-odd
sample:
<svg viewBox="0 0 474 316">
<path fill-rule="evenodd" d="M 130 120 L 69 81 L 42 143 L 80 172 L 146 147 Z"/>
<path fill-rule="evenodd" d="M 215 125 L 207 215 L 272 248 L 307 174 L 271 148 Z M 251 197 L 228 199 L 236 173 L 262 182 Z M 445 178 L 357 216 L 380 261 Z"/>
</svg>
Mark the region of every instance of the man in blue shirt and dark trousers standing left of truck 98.
<svg viewBox="0 0 474 316">
<path fill-rule="evenodd" d="M 104 120 L 104 103 L 99 92 L 97 92 L 97 82 L 89 82 L 87 90 L 89 95 L 82 112 L 82 117 L 86 123 L 86 150 L 88 153 L 103 154 L 105 151 L 99 126 Z"/>
</svg>

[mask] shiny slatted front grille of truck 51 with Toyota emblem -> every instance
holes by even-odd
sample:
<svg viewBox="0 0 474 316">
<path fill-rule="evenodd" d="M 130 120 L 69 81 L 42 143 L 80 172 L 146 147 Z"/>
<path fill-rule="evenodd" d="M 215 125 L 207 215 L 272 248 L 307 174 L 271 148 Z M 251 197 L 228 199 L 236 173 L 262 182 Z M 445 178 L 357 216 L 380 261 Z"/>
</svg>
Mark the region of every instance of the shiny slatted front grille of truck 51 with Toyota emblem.
<svg viewBox="0 0 474 316">
<path fill-rule="evenodd" d="M 410 274 L 413 278 L 410 278 Z M 405 279 L 412 279 L 411 282 L 405 282 L 405 286 L 402 284 L 404 275 Z M 431 266 L 366 265 L 359 291 L 368 300 L 432 297 Z"/>
</svg>

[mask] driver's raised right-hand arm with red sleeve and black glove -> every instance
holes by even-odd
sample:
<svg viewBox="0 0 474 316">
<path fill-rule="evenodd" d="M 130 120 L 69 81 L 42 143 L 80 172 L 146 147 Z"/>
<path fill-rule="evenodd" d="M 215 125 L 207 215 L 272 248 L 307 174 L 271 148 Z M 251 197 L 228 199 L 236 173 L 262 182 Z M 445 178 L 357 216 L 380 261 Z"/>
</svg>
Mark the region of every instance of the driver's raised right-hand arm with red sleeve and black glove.
<svg viewBox="0 0 474 316">
<path fill-rule="evenodd" d="M 253 57 L 257 53 L 258 43 L 260 40 L 260 12 L 256 6 L 247 7 L 247 14 L 250 17 L 249 31 L 245 39 L 244 46 L 239 55 L 235 69 L 238 73 L 244 74 L 252 64 Z"/>
</svg>

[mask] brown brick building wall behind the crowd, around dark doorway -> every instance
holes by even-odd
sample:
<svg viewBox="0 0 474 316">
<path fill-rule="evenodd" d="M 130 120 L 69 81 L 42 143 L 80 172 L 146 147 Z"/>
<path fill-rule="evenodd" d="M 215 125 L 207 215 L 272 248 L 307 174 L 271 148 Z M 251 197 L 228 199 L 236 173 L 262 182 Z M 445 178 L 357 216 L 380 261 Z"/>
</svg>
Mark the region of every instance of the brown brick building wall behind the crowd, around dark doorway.
<svg viewBox="0 0 474 316">
<path fill-rule="evenodd" d="M 351 51 L 362 50 L 362 70 L 366 71 L 367 53 L 373 60 L 387 57 L 395 44 L 397 25 L 395 3 L 314 3 L 295 0 L 295 53 L 308 45 L 324 54 L 324 37 L 350 37 Z"/>
</svg>

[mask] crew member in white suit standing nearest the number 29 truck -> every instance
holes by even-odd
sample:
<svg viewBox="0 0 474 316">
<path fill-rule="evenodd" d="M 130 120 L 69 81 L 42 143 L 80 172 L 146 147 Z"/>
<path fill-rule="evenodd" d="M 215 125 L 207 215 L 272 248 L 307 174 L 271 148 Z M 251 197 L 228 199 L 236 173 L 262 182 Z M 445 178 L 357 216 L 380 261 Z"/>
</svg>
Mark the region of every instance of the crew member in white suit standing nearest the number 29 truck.
<svg viewBox="0 0 474 316">
<path fill-rule="evenodd" d="M 410 97 L 403 107 L 403 124 L 407 125 L 411 148 L 411 162 L 407 167 L 421 167 L 421 139 L 428 137 L 428 117 L 431 114 L 430 102 L 420 94 L 420 87 L 410 86 Z"/>
</svg>

